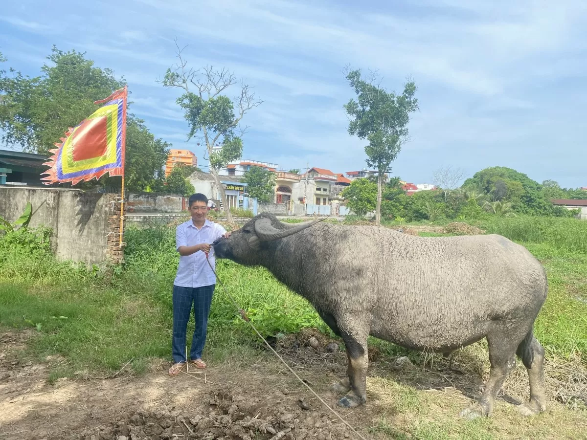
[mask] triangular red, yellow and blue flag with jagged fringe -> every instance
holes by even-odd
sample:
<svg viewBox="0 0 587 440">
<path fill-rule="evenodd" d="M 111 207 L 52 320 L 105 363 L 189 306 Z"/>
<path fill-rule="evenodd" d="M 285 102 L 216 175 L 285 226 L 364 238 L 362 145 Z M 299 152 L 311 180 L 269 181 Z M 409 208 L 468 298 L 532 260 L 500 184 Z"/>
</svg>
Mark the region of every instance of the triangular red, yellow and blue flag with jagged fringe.
<svg viewBox="0 0 587 440">
<path fill-rule="evenodd" d="M 81 181 L 104 174 L 120 175 L 124 179 L 124 149 L 126 146 L 127 87 L 116 90 L 106 99 L 95 101 L 104 104 L 89 117 L 71 128 L 61 138 L 58 147 L 45 163 L 49 170 L 45 185 Z"/>
</svg>

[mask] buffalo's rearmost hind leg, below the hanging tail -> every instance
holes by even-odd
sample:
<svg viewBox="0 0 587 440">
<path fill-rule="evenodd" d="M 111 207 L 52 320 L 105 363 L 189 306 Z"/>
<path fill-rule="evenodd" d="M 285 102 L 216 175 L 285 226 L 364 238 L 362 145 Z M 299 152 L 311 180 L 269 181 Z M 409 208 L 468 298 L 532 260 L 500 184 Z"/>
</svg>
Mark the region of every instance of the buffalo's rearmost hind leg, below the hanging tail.
<svg viewBox="0 0 587 440">
<path fill-rule="evenodd" d="M 530 400 L 519 405 L 521 415 L 535 415 L 546 409 L 546 392 L 544 385 L 544 348 L 534 337 L 532 331 L 518 346 L 516 352 L 528 370 L 530 383 Z"/>
</svg>

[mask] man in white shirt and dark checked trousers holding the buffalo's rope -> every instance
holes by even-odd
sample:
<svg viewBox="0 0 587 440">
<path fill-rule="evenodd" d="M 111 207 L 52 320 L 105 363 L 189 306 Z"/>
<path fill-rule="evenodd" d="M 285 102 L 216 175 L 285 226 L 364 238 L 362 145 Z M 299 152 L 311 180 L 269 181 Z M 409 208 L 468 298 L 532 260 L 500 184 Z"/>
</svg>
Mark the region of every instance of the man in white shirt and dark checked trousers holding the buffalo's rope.
<svg viewBox="0 0 587 440">
<path fill-rule="evenodd" d="M 185 358 L 185 333 L 194 304 L 195 329 L 191 342 L 190 364 L 196 368 L 206 368 L 202 351 L 206 340 L 208 315 L 212 294 L 216 284 L 214 272 L 206 257 L 215 268 L 211 244 L 220 236 L 228 237 L 221 225 L 206 219 L 209 205 L 204 194 L 193 194 L 188 201 L 191 219 L 177 226 L 176 248 L 180 253 L 180 264 L 173 283 L 173 337 L 171 340 L 173 362 L 170 375 L 176 375 L 187 365 Z"/>
</svg>

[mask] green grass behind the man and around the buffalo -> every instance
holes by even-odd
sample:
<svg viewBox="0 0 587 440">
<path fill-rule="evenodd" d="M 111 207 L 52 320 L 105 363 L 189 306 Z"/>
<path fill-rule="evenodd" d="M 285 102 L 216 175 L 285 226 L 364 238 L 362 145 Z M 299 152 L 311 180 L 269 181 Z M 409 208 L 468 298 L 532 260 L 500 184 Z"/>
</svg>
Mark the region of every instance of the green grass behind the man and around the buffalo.
<svg viewBox="0 0 587 440">
<path fill-rule="evenodd" d="M 565 225 L 564 220 L 553 219 L 554 227 Z M 501 222 L 495 224 L 505 228 Z M 40 324 L 32 351 L 36 356 L 62 354 L 70 370 L 113 371 L 135 358 L 133 368 L 138 371 L 150 357 L 170 358 L 171 290 L 178 262 L 174 231 L 166 226 L 129 228 L 127 243 L 126 267 L 110 283 L 96 268 L 6 252 L 0 261 L 0 325 Z M 524 244 L 544 263 L 549 276 L 549 297 L 537 320 L 537 336 L 549 353 L 579 355 L 587 361 L 587 254 L 553 246 L 546 239 Z M 267 270 L 220 260 L 217 271 L 263 334 L 303 327 L 328 331 L 310 304 Z M 207 356 L 219 360 L 236 353 L 248 356 L 259 345 L 220 285 L 208 334 Z M 380 345 L 389 354 L 403 351 Z"/>
</svg>

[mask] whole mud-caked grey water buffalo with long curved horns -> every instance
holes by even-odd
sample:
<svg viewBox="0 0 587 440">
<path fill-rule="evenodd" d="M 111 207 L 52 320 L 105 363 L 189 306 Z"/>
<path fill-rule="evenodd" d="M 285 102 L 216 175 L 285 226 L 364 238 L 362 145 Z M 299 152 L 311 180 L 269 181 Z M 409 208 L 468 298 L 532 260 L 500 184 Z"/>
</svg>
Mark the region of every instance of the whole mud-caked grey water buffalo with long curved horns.
<svg viewBox="0 0 587 440">
<path fill-rule="evenodd" d="M 530 384 L 519 412 L 545 410 L 544 348 L 533 327 L 548 287 L 523 246 L 500 235 L 427 238 L 318 222 L 288 225 L 264 213 L 213 246 L 218 258 L 267 268 L 342 337 L 348 377 L 333 386 L 346 394 L 340 406 L 366 401 L 370 335 L 444 354 L 486 338 L 490 377 L 461 417 L 491 415 L 516 354 Z"/>
</svg>

